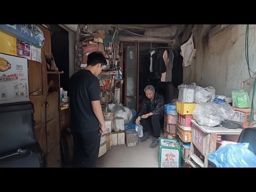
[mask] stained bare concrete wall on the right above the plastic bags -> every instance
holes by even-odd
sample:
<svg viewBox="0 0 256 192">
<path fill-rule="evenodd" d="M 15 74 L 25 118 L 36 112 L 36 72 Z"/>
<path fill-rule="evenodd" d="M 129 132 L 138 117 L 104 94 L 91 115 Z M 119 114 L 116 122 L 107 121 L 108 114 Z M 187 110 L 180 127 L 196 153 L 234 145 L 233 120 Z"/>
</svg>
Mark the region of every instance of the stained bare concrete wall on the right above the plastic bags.
<svg viewBox="0 0 256 192">
<path fill-rule="evenodd" d="M 216 94 L 231 97 L 232 89 L 245 88 L 252 92 L 245 57 L 246 25 L 232 25 L 208 38 L 210 25 L 195 25 L 193 41 L 195 58 L 184 67 L 183 82 L 213 86 Z M 249 63 L 256 70 L 256 25 L 249 26 Z"/>
</svg>

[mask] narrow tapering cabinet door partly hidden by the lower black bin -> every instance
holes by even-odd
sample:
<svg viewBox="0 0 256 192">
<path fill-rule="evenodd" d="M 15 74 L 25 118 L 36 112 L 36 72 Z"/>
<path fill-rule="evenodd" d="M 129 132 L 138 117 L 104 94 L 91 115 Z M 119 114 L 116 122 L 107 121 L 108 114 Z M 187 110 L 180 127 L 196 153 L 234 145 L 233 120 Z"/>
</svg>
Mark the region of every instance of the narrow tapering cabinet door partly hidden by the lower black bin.
<svg viewBox="0 0 256 192">
<path fill-rule="evenodd" d="M 46 145 L 46 124 L 38 125 L 34 127 L 36 138 L 40 144 L 44 155 L 47 154 L 47 145 Z"/>
</svg>

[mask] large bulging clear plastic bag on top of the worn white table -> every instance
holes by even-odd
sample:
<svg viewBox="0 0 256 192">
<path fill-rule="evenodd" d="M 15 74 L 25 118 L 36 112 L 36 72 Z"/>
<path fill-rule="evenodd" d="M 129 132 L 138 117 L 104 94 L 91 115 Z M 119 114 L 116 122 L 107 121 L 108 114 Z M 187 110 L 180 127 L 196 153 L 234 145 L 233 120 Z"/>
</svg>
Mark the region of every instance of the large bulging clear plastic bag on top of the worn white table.
<svg viewBox="0 0 256 192">
<path fill-rule="evenodd" d="M 234 110 L 227 102 L 221 104 L 200 103 L 195 106 L 192 115 L 200 126 L 214 127 L 224 120 L 232 120 Z"/>
</svg>

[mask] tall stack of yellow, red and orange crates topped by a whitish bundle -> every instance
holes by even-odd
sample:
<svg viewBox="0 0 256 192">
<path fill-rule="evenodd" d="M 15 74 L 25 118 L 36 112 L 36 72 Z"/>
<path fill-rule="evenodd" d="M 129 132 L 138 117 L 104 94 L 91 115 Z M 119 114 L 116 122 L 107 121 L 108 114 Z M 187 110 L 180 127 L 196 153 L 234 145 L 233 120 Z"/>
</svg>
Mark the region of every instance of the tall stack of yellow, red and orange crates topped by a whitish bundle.
<svg viewBox="0 0 256 192">
<path fill-rule="evenodd" d="M 196 106 L 196 103 L 194 103 L 194 94 L 195 92 L 192 88 L 180 88 L 179 98 L 176 101 L 178 113 L 176 133 L 180 141 L 182 162 L 186 162 L 190 155 L 192 111 Z"/>
</svg>

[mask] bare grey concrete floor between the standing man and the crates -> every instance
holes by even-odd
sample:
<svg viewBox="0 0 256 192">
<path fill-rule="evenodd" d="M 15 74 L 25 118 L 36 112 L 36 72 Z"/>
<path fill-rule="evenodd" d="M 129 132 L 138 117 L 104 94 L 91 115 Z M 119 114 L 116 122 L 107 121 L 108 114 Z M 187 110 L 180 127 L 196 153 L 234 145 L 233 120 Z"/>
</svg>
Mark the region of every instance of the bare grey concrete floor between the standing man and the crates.
<svg viewBox="0 0 256 192">
<path fill-rule="evenodd" d="M 164 137 L 162 132 L 161 137 Z M 111 150 L 98 158 L 97 167 L 158 167 L 159 146 L 150 149 L 152 140 L 153 135 L 144 143 L 140 142 L 139 138 L 138 146 L 127 147 L 126 144 L 112 146 Z"/>
</svg>

